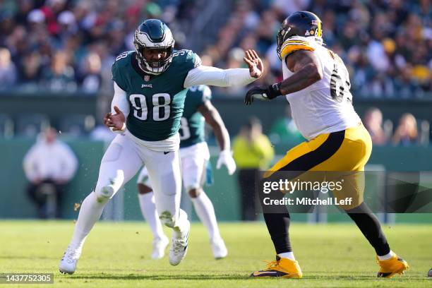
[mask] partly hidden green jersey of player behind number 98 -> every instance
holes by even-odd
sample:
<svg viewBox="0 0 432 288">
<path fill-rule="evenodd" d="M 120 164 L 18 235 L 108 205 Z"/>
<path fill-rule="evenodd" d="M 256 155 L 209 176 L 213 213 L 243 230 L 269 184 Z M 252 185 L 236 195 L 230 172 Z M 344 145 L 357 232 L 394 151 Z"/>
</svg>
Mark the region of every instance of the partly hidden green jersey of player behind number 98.
<svg viewBox="0 0 432 288">
<path fill-rule="evenodd" d="M 180 148 L 204 141 L 204 117 L 198 112 L 198 107 L 211 98 L 212 91 L 207 85 L 193 86 L 188 89 L 179 130 Z"/>
</svg>

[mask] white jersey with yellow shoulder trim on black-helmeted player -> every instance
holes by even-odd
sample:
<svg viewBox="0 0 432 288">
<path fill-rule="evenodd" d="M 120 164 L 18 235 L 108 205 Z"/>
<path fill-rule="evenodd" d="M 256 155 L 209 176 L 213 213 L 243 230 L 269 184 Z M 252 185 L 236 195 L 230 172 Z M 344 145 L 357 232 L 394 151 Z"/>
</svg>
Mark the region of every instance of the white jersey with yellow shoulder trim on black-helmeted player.
<svg viewBox="0 0 432 288">
<path fill-rule="evenodd" d="M 323 47 L 315 37 L 290 37 L 282 45 L 284 79 L 292 76 L 285 58 L 305 49 L 316 54 L 323 69 L 323 78 L 298 92 L 286 95 L 292 118 L 306 139 L 324 133 L 342 131 L 361 123 L 352 106 L 349 75 L 342 59 Z"/>
</svg>

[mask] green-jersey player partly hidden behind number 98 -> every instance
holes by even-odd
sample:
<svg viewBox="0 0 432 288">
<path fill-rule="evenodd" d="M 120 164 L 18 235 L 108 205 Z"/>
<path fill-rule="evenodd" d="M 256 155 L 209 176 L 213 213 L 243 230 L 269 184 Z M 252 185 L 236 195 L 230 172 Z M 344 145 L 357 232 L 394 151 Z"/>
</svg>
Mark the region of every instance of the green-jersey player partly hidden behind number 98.
<svg viewBox="0 0 432 288">
<path fill-rule="evenodd" d="M 183 186 L 191 197 L 196 214 L 207 229 L 213 256 L 220 259 L 226 257 L 228 251 L 217 227 L 212 201 L 203 191 L 206 176 L 210 176 L 207 175 L 210 152 L 205 142 L 204 121 L 212 127 L 219 143 L 217 169 L 225 165 L 228 174 L 232 175 L 236 170 L 236 163 L 231 155 L 229 133 L 219 112 L 210 102 L 211 97 L 212 92 L 206 85 L 188 88 L 179 130 L 179 153 Z M 138 176 L 138 199 L 143 217 L 150 225 L 154 238 L 152 258 L 162 258 L 169 241 L 157 216 L 152 184 L 145 167 Z"/>
</svg>

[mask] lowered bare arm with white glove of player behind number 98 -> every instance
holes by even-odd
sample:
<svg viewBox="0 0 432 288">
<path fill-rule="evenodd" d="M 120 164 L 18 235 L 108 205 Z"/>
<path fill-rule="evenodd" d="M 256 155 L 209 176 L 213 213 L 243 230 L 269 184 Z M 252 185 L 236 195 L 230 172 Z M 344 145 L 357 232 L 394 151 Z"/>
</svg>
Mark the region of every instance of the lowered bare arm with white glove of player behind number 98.
<svg viewBox="0 0 432 288">
<path fill-rule="evenodd" d="M 200 107 L 198 107 L 198 112 L 203 114 L 205 122 L 212 126 L 217 138 L 217 143 L 219 143 L 220 155 L 219 159 L 217 159 L 216 168 L 220 169 L 222 165 L 225 165 L 227 167 L 228 174 L 234 174 L 236 171 L 236 162 L 231 155 L 229 133 L 227 128 L 225 128 L 224 121 L 222 121 L 219 112 L 217 112 L 217 109 L 210 101 L 206 101 L 204 104 L 200 105 Z"/>
</svg>

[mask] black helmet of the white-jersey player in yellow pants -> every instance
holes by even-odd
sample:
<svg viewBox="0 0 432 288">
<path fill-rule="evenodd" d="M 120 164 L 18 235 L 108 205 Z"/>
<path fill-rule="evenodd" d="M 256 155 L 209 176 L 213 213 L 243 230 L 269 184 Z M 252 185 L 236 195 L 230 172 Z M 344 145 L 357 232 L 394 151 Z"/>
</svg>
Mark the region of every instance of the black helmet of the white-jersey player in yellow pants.
<svg viewBox="0 0 432 288">
<path fill-rule="evenodd" d="M 292 13 L 282 22 L 279 32 L 277 32 L 277 56 L 282 60 L 280 53 L 282 44 L 293 36 L 315 37 L 318 42 L 323 43 L 323 30 L 321 20 L 312 12 L 298 11 Z"/>
</svg>

